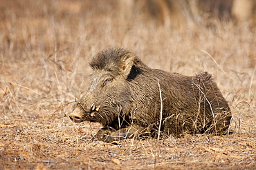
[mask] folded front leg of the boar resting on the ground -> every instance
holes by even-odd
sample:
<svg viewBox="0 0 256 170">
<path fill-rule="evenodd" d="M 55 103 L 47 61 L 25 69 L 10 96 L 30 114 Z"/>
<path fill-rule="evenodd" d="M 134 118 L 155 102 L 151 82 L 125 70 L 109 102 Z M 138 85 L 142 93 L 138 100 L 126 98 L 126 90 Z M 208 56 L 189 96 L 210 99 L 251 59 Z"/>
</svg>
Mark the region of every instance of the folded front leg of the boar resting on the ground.
<svg viewBox="0 0 256 170">
<path fill-rule="evenodd" d="M 113 142 L 125 140 L 127 138 L 136 138 L 136 136 L 138 136 L 138 132 L 138 128 L 132 126 L 118 130 L 113 129 L 112 127 L 103 127 L 95 135 L 95 139 L 102 140 L 104 142 Z"/>
</svg>

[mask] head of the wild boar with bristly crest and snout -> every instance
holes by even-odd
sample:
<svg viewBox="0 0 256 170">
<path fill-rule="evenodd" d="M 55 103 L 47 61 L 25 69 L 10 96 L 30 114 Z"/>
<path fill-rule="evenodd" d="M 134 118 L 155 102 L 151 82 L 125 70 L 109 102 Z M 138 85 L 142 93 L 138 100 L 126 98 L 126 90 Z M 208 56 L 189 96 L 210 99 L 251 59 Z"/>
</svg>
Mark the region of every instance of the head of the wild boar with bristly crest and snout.
<svg viewBox="0 0 256 170">
<path fill-rule="evenodd" d="M 118 125 L 127 125 L 125 116 L 129 114 L 133 100 L 129 81 L 133 78 L 131 70 L 135 59 L 134 54 L 120 47 L 111 47 L 93 56 L 91 85 L 69 114 L 71 120 L 75 123 L 98 122 L 103 126 L 126 121 Z"/>
</svg>

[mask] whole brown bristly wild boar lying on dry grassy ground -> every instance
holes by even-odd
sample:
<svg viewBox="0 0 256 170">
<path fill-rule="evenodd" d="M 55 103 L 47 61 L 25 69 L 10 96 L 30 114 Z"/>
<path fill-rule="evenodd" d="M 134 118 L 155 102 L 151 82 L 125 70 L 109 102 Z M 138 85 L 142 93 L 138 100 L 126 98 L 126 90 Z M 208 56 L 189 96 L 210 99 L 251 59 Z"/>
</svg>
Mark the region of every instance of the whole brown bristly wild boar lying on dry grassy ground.
<svg viewBox="0 0 256 170">
<path fill-rule="evenodd" d="M 102 50 L 90 65 L 91 85 L 69 116 L 101 123 L 98 140 L 156 137 L 158 129 L 161 137 L 228 132 L 230 108 L 207 72 L 152 69 L 121 47 Z"/>
</svg>

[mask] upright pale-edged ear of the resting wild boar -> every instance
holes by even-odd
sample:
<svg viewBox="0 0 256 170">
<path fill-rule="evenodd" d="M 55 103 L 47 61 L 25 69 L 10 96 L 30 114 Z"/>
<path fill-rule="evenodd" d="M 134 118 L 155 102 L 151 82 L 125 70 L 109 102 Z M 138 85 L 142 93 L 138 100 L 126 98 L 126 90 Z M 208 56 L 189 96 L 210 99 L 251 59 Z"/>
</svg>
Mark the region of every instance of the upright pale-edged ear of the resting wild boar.
<svg viewBox="0 0 256 170">
<path fill-rule="evenodd" d="M 131 53 L 125 54 L 121 57 L 120 70 L 125 77 L 127 77 L 131 72 L 131 67 L 132 65 L 134 65 L 134 59 L 135 59 L 135 55 Z"/>
</svg>

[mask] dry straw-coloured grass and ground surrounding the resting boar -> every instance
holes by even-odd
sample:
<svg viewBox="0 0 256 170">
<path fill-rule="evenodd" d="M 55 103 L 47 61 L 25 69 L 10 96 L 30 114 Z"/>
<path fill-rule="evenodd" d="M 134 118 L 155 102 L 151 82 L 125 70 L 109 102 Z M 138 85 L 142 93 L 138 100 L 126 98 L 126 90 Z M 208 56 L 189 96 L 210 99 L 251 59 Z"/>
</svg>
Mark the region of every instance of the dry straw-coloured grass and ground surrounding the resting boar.
<svg viewBox="0 0 256 170">
<path fill-rule="evenodd" d="M 125 21 L 115 1 L 13 0 L 0 9 L 0 169 L 256 168 L 255 28 Z M 71 123 L 67 104 L 88 87 L 91 56 L 113 45 L 150 67 L 213 74 L 236 133 L 91 141 L 100 125 Z"/>
</svg>

